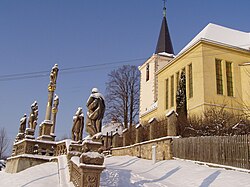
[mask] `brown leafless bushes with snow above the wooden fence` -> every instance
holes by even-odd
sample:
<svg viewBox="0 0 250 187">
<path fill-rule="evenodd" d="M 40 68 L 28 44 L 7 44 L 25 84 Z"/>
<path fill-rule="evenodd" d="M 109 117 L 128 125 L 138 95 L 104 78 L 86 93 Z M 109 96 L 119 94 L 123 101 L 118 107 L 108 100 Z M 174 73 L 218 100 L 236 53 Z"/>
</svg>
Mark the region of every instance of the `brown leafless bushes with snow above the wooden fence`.
<svg viewBox="0 0 250 187">
<path fill-rule="evenodd" d="M 247 116 L 226 111 L 225 107 L 210 107 L 202 116 L 189 116 L 183 136 L 232 136 L 250 133 Z"/>
</svg>

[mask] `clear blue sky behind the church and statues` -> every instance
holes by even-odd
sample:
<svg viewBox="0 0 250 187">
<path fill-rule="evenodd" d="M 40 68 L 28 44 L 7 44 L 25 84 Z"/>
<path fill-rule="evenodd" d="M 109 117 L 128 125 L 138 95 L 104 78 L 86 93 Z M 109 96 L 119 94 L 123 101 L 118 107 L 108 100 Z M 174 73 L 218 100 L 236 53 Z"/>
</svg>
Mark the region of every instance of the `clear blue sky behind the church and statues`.
<svg viewBox="0 0 250 187">
<path fill-rule="evenodd" d="M 162 0 L 1 0 L 0 76 L 146 59 L 155 51 Z M 208 23 L 250 32 L 249 0 L 168 0 L 167 20 L 175 53 Z M 143 60 L 130 62 L 139 66 Z M 107 74 L 121 64 L 60 72 L 56 135 L 69 135 L 77 107 L 93 87 L 105 94 Z M 0 77 L 0 127 L 14 139 L 19 120 L 37 100 L 45 117 L 49 77 Z M 38 128 L 37 128 L 38 129 Z"/>
</svg>

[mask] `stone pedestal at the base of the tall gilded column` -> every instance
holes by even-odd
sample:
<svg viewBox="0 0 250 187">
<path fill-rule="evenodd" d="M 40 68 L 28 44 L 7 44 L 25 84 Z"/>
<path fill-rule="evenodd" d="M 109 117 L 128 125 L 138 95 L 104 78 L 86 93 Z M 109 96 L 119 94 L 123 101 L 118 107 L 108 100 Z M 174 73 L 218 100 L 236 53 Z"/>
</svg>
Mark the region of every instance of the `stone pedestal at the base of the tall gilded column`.
<svg viewBox="0 0 250 187">
<path fill-rule="evenodd" d="M 38 140 L 45 140 L 45 141 L 53 141 L 53 137 L 50 135 L 51 127 L 53 122 L 50 120 L 44 120 L 40 124 L 40 136 L 37 138 Z"/>
</svg>

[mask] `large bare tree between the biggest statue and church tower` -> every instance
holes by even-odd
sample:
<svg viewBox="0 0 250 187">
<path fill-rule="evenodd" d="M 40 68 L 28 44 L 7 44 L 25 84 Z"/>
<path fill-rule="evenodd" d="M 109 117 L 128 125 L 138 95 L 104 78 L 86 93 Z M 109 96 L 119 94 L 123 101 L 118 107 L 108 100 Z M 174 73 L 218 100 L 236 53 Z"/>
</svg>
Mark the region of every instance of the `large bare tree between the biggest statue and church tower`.
<svg viewBox="0 0 250 187">
<path fill-rule="evenodd" d="M 136 66 L 124 65 L 108 74 L 106 121 L 116 119 L 128 128 L 139 114 L 140 73 Z"/>
</svg>

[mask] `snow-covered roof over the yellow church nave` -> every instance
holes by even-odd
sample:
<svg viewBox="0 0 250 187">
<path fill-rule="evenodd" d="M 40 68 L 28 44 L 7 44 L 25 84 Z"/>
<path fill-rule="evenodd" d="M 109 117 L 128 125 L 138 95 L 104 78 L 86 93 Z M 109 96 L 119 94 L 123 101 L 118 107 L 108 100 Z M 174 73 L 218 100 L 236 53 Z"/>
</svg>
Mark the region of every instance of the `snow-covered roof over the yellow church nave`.
<svg viewBox="0 0 250 187">
<path fill-rule="evenodd" d="M 250 49 L 250 33 L 243 32 L 213 23 L 209 23 L 193 40 L 191 40 L 179 54 L 196 44 L 200 40 L 229 45 L 241 49 Z M 178 55 L 179 55 L 178 54 Z"/>
</svg>

